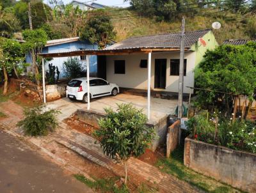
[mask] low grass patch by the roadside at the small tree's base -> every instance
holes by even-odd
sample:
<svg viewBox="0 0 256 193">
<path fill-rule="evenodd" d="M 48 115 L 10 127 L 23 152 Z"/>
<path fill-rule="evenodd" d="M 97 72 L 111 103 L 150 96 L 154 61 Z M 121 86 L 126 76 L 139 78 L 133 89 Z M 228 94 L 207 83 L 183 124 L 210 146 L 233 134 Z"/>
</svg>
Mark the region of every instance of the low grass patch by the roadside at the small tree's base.
<svg viewBox="0 0 256 193">
<path fill-rule="evenodd" d="M 95 179 L 95 181 L 88 180 L 82 174 L 75 174 L 74 177 L 90 187 L 91 189 L 96 190 L 97 192 L 113 192 L 113 193 L 128 193 L 130 190 L 125 186 L 121 185 L 118 187 L 115 185 L 115 181 L 118 181 L 118 178 L 103 178 L 103 179 Z M 148 192 L 156 192 L 156 190 L 151 189 L 145 184 L 141 184 L 135 191 L 138 193 L 148 193 Z"/>
</svg>

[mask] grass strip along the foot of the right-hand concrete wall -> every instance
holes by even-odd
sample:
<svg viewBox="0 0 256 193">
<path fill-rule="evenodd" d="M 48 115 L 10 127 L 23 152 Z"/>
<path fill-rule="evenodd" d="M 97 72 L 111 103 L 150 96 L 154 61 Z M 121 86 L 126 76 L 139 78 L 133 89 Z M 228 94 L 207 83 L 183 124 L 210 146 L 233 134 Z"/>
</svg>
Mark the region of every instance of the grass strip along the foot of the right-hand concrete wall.
<svg viewBox="0 0 256 193">
<path fill-rule="evenodd" d="M 157 167 L 164 173 L 172 174 L 180 180 L 211 193 L 240 192 L 227 184 L 214 180 L 213 178 L 196 173 L 183 164 L 184 147 L 180 146 L 173 151 L 170 158 L 162 158 L 157 162 Z"/>
</svg>

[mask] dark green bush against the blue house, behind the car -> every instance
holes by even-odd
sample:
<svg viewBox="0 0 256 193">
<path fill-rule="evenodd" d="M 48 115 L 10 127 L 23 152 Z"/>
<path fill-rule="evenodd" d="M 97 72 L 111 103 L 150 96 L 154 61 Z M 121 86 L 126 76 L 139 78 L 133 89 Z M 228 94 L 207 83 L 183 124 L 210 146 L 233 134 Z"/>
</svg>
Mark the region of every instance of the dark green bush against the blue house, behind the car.
<svg viewBox="0 0 256 193">
<path fill-rule="evenodd" d="M 67 61 L 63 63 L 64 73 L 70 79 L 75 79 L 83 76 L 84 68 L 79 62 L 78 58 L 68 58 Z"/>
</svg>

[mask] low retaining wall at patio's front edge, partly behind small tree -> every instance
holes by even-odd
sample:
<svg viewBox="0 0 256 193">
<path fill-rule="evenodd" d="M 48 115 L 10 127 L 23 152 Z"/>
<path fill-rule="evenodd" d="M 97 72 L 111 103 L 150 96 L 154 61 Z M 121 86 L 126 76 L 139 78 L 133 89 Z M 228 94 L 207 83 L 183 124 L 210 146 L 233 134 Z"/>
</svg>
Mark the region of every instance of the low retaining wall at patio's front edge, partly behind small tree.
<svg viewBox="0 0 256 193">
<path fill-rule="evenodd" d="M 96 128 L 99 128 L 99 125 L 98 125 L 99 118 L 102 118 L 104 116 L 105 114 L 92 111 L 92 110 L 84 110 L 84 109 L 77 110 L 77 117 L 79 118 L 79 120 L 89 125 L 92 125 L 93 127 L 96 127 Z M 156 148 L 159 146 L 159 144 L 164 144 L 166 142 L 167 124 L 168 124 L 167 118 L 168 117 L 166 116 L 166 118 L 159 120 L 157 123 L 146 124 L 147 127 L 154 127 L 154 130 L 156 131 L 156 134 L 158 136 L 157 139 L 152 141 L 152 144 L 150 147 L 152 151 L 156 151 Z"/>
</svg>

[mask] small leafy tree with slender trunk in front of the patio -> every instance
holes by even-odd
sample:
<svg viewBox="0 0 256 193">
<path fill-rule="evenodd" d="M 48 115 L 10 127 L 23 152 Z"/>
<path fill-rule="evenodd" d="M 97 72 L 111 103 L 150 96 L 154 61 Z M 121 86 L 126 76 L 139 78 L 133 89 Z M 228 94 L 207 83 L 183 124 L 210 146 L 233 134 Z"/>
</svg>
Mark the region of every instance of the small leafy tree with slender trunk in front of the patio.
<svg viewBox="0 0 256 193">
<path fill-rule="evenodd" d="M 147 116 L 142 109 L 131 104 L 118 104 L 117 112 L 105 109 L 106 118 L 99 120 L 100 129 L 95 135 L 108 157 L 124 163 L 125 184 L 127 183 L 127 161 L 130 157 L 139 157 L 145 152 L 156 134 L 154 128 L 148 128 Z"/>
</svg>

